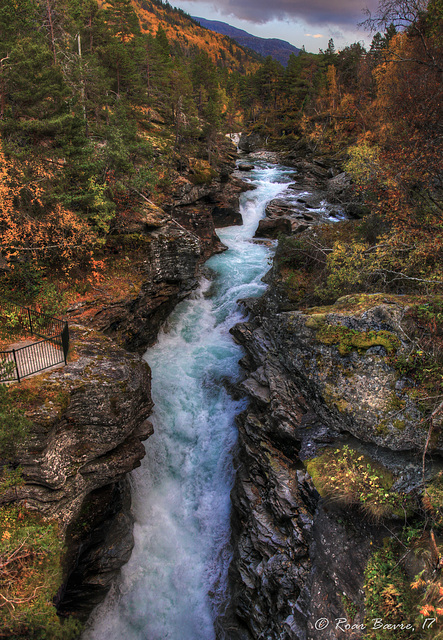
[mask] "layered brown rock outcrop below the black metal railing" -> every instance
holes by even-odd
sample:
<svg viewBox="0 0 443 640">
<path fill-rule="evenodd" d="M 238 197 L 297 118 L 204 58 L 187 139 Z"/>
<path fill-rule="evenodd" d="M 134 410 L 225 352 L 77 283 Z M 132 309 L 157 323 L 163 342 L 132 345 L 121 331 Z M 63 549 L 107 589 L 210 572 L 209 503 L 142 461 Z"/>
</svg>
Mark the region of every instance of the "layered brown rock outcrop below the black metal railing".
<svg viewBox="0 0 443 640">
<path fill-rule="evenodd" d="M 37 376 L 33 427 L 18 462 L 25 485 L 12 498 L 56 518 L 66 534 L 62 613 L 85 619 L 132 550 L 126 474 L 152 434 L 150 369 L 94 330 L 71 327 L 71 361 Z M 53 398 L 53 399 L 52 399 Z"/>
</svg>

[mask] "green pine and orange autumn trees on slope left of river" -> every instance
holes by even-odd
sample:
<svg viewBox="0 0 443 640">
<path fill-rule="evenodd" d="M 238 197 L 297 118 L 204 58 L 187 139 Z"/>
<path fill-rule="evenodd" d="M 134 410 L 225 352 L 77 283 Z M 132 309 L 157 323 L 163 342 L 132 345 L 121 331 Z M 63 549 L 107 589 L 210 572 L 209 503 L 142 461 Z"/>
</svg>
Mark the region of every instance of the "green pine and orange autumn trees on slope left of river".
<svg viewBox="0 0 443 640">
<path fill-rule="evenodd" d="M 14 286 L 93 274 L 186 156 L 216 163 L 228 79 L 161 25 L 143 33 L 130 0 L 2 2 L 0 266 Z"/>
</svg>

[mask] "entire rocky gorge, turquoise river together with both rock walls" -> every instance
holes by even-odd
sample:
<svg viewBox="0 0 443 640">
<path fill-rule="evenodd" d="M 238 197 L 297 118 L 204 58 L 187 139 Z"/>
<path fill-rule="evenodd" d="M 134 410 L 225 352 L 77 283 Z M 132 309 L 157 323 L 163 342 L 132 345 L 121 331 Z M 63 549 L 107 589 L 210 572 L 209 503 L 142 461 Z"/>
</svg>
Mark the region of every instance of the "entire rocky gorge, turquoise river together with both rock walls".
<svg viewBox="0 0 443 640">
<path fill-rule="evenodd" d="M 243 224 L 216 235 L 240 191 Z M 443 444 L 436 428 L 425 460 L 423 408 L 392 358 L 414 348 L 405 298 L 297 303 L 291 251 L 319 246 L 319 223 L 352 224 L 348 193 L 305 148 L 249 153 L 215 186 L 182 180 L 139 229 L 139 291 L 72 307 L 74 356 L 39 379 L 55 400 L 29 413 L 16 498 L 66 533 L 57 605 L 83 640 L 338 640 L 342 618 L 363 637 L 374 550 Z M 336 498 L 344 459 L 363 495 L 371 470 L 382 519 L 357 490 Z"/>
</svg>

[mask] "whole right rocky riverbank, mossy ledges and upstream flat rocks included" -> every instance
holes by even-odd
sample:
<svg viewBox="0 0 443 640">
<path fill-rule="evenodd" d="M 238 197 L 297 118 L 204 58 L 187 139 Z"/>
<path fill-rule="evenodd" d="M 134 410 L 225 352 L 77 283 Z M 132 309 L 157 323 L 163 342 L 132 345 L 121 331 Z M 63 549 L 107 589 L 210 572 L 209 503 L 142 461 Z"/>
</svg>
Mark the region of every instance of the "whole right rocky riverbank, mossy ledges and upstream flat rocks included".
<svg viewBox="0 0 443 640">
<path fill-rule="evenodd" d="M 271 221 L 288 222 L 280 233 L 302 234 L 314 223 L 301 220 L 307 205 L 320 198 L 324 207 L 334 193 L 333 207 L 352 211 L 345 175 L 332 175 L 312 158 L 301 161 L 297 151 L 293 160 L 293 190 L 309 195 L 268 206 Z M 393 562 L 392 571 L 402 575 L 392 587 L 397 613 L 381 587 L 377 609 L 368 567 L 397 544 L 407 514 L 415 524 L 420 520 L 423 482 L 435 482 L 442 467 L 441 415 L 434 416 L 430 443 L 429 413 L 416 383 L 398 366 L 417 349 L 409 337 L 413 302 L 349 295 L 329 307 L 299 310 L 276 264 L 267 279 L 265 296 L 245 302 L 249 320 L 232 330 L 246 351 L 240 386 L 249 407 L 238 420 L 230 637 L 338 640 L 344 632 L 336 620 L 342 619 L 342 626 L 349 624 L 346 637 L 360 638 L 368 616 L 384 615 L 389 624 L 400 610 L 405 619 L 412 615 L 399 585 L 403 580 L 407 593 L 414 575 L 426 575 L 423 557 L 431 554 L 425 536 L 415 543 L 415 558 L 403 552 Z M 423 473 L 425 449 L 434 457 Z M 376 573 L 389 577 L 383 566 Z"/>
</svg>

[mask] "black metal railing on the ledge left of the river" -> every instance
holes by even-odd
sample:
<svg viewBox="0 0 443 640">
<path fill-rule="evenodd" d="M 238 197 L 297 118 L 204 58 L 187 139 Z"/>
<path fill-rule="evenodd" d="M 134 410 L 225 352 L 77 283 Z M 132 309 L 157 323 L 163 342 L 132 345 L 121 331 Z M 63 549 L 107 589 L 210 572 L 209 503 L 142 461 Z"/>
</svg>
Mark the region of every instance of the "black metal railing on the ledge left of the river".
<svg viewBox="0 0 443 640">
<path fill-rule="evenodd" d="M 69 351 L 68 323 L 35 309 L 0 300 L 0 325 L 9 335 L 41 338 L 17 349 L 0 351 L 0 382 L 20 382 L 56 364 L 66 364 Z"/>
</svg>

